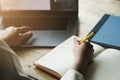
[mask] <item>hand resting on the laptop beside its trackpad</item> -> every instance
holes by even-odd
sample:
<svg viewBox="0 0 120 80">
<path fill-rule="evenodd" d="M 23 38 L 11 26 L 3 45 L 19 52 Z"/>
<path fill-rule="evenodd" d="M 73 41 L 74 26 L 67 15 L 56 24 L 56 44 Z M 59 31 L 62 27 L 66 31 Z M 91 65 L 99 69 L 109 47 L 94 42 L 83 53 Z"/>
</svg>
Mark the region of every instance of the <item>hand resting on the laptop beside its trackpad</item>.
<svg viewBox="0 0 120 80">
<path fill-rule="evenodd" d="M 9 46 L 18 46 L 25 43 L 32 36 L 29 27 L 8 27 L 0 33 L 0 39 L 4 40 Z"/>
</svg>

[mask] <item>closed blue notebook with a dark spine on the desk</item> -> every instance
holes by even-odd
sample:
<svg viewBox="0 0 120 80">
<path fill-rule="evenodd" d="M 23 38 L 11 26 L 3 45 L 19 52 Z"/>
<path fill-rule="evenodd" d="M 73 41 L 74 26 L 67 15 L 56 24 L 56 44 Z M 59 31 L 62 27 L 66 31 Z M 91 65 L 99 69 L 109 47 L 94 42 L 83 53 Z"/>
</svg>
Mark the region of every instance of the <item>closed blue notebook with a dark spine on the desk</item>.
<svg viewBox="0 0 120 80">
<path fill-rule="evenodd" d="M 89 41 L 104 47 L 120 49 L 120 16 L 105 14 L 92 31 L 95 35 Z"/>
</svg>

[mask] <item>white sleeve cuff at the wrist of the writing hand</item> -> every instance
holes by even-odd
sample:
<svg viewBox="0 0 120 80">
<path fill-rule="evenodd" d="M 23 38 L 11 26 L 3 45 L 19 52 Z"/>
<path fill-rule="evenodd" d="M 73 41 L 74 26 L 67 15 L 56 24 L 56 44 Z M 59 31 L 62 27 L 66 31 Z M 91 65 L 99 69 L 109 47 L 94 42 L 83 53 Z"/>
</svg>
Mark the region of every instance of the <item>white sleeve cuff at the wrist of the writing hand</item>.
<svg viewBox="0 0 120 80">
<path fill-rule="evenodd" d="M 69 70 L 60 80 L 84 80 L 84 76 L 76 70 Z"/>
</svg>

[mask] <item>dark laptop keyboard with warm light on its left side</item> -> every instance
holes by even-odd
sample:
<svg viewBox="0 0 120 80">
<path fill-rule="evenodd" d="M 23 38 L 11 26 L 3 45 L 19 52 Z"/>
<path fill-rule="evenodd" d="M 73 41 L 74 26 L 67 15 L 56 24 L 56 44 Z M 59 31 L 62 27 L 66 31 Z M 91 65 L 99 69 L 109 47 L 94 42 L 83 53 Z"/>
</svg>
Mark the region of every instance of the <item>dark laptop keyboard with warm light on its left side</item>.
<svg viewBox="0 0 120 80">
<path fill-rule="evenodd" d="M 67 30 L 68 19 L 66 17 L 4 17 L 2 25 L 30 26 L 32 30 Z"/>
</svg>

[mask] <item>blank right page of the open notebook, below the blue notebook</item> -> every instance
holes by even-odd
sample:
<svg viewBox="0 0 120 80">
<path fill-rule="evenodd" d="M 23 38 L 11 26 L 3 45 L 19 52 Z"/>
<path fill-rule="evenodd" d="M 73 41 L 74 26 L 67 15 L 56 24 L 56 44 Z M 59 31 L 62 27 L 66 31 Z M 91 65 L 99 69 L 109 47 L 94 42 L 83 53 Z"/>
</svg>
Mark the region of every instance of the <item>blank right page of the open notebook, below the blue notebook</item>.
<svg viewBox="0 0 120 80">
<path fill-rule="evenodd" d="M 120 80 L 120 51 L 106 49 L 90 64 L 87 80 Z"/>
</svg>

